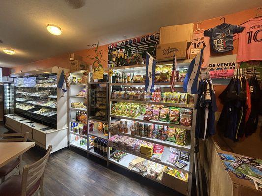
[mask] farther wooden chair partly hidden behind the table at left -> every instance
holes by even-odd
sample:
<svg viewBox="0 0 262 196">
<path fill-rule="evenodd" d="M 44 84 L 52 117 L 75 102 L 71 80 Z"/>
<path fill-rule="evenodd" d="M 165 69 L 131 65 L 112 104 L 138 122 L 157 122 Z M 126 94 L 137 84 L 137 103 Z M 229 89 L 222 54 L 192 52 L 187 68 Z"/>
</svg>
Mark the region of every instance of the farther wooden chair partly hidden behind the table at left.
<svg viewBox="0 0 262 196">
<path fill-rule="evenodd" d="M 26 142 L 29 132 L 26 133 L 5 133 L 0 134 L 0 142 Z M 2 138 L 2 139 L 1 139 Z M 22 154 L 19 158 L 16 158 L 0 168 L 0 179 L 2 183 L 5 180 L 5 176 L 13 169 L 17 168 L 19 175 L 21 175 L 20 164 L 22 162 Z"/>
</svg>

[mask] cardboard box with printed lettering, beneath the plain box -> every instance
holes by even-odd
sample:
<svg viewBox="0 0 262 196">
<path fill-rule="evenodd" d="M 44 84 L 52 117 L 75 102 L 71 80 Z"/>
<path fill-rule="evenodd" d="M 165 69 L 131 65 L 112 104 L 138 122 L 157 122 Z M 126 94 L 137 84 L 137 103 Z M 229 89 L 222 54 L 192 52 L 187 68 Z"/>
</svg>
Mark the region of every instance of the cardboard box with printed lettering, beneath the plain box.
<svg viewBox="0 0 262 196">
<path fill-rule="evenodd" d="M 169 44 L 158 44 L 156 47 L 156 60 L 168 61 L 173 60 L 173 52 L 176 59 L 186 58 L 187 42 L 174 42 Z"/>
</svg>

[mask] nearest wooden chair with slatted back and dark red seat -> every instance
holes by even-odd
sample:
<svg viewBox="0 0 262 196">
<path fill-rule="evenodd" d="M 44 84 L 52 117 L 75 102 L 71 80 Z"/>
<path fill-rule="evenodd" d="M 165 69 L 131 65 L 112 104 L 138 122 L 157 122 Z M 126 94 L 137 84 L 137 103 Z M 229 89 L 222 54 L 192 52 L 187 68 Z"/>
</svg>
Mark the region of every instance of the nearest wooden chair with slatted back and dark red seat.
<svg viewBox="0 0 262 196">
<path fill-rule="evenodd" d="M 52 149 L 48 146 L 46 155 L 31 165 L 25 165 L 22 175 L 13 175 L 0 185 L 1 196 L 32 196 L 40 191 L 44 196 L 44 172 Z"/>
</svg>

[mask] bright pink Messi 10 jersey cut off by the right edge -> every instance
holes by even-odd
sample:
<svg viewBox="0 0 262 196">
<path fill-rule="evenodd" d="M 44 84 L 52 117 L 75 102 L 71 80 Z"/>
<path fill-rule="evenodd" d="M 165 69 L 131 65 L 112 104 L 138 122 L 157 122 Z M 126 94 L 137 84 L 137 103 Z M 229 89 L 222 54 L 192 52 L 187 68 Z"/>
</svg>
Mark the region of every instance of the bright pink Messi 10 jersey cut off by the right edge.
<svg viewBox="0 0 262 196">
<path fill-rule="evenodd" d="M 245 29 L 236 35 L 239 38 L 236 62 L 262 61 L 262 17 L 242 24 Z"/>
</svg>

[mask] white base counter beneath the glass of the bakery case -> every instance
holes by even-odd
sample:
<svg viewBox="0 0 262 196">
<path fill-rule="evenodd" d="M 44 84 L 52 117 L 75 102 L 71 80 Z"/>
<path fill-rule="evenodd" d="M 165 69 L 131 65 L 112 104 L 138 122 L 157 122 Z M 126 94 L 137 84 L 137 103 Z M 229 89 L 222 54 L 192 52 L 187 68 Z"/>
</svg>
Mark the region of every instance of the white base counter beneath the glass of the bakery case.
<svg viewBox="0 0 262 196">
<path fill-rule="evenodd" d="M 68 146 L 68 127 L 54 129 L 16 114 L 5 115 L 5 126 L 17 133 L 29 132 L 28 139 L 45 150 L 52 145 L 51 153 Z"/>
</svg>

